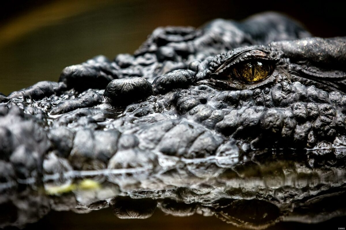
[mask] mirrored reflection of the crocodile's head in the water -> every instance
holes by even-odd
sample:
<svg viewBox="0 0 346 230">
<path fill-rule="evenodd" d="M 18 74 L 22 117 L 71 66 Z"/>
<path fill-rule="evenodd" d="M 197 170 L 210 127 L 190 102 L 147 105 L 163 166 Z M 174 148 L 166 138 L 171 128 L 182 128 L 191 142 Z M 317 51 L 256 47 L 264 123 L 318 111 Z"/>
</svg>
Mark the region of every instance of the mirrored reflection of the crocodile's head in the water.
<svg viewBox="0 0 346 230">
<path fill-rule="evenodd" d="M 45 164 L 49 156 L 44 168 Z M 1 210 L 6 212 L 0 223 L 23 227 L 51 210 L 89 213 L 108 207 L 120 219 L 146 219 L 158 208 L 175 217 L 215 216 L 237 227 L 264 229 L 279 221 L 317 223 L 346 212 L 343 167 L 312 170 L 298 162 L 261 165 L 245 166 L 240 174 L 234 167 L 215 166 L 205 176 L 195 175 L 186 165 L 160 166 L 139 177 L 141 169 L 45 170 L 44 188 L 28 179 L 9 186 L 4 185 L 11 181 L 1 183 Z M 99 180 L 102 174 L 108 180 Z"/>
</svg>

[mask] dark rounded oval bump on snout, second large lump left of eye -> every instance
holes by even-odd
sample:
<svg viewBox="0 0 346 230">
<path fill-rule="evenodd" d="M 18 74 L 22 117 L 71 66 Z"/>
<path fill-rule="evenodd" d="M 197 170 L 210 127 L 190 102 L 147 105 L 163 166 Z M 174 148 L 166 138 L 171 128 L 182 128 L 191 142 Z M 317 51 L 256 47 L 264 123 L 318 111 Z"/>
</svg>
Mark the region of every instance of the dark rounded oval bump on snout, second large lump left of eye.
<svg viewBox="0 0 346 230">
<path fill-rule="evenodd" d="M 144 78 L 132 77 L 112 80 L 103 96 L 114 106 L 140 102 L 153 94 L 153 86 Z"/>
</svg>

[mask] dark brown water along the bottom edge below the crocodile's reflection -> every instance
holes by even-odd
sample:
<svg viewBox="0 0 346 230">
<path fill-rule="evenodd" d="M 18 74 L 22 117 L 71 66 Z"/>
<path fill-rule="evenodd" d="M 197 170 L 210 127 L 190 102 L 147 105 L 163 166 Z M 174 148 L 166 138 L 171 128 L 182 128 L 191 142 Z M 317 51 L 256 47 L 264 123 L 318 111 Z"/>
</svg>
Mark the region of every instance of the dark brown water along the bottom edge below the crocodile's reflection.
<svg viewBox="0 0 346 230">
<path fill-rule="evenodd" d="M 338 229 L 345 227 L 345 217 L 338 217 L 319 224 L 302 224 L 294 222 L 281 222 L 267 230 L 289 229 Z M 9 228 L 10 229 L 10 228 Z M 7 229 L 7 230 L 9 230 Z M 156 210 L 148 219 L 118 219 L 110 209 L 92 211 L 87 214 L 74 212 L 51 212 L 38 223 L 29 224 L 26 230 L 34 229 L 73 229 L 73 230 L 242 230 L 215 217 L 203 217 L 194 214 L 190 217 L 172 217 L 160 210 Z"/>
</svg>

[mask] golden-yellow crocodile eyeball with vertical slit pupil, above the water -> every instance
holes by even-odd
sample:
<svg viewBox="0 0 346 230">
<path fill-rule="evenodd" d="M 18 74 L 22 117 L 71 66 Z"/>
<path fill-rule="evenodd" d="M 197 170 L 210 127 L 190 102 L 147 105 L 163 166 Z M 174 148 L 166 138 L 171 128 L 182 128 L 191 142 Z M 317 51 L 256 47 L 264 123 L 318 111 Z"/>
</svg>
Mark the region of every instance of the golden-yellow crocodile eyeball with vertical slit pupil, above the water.
<svg viewBox="0 0 346 230">
<path fill-rule="evenodd" d="M 251 61 L 237 65 L 233 69 L 234 75 L 246 83 L 254 83 L 265 79 L 271 73 L 272 66 L 260 61 Z"/>
</svg>

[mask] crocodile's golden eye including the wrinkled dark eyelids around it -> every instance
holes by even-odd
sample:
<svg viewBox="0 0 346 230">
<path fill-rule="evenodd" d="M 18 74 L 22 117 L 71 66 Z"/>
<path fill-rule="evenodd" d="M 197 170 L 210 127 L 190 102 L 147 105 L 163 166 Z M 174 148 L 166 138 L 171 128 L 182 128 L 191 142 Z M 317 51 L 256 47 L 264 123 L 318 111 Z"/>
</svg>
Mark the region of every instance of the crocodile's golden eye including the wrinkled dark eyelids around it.
<svg viewBox="0 0 346 230">
<path fill-rule="evenodd" d="M 265 47 L 227 51 L 211 60 L 205 80 L 200 80 L 198 84 L 207 84 L 221 90 L 254 89 L 273 85 L 278 79 L 277 71 L 286 68 L 283 64 L 277 65 L 280 55 L 279 52 Z"/>
</svg>

